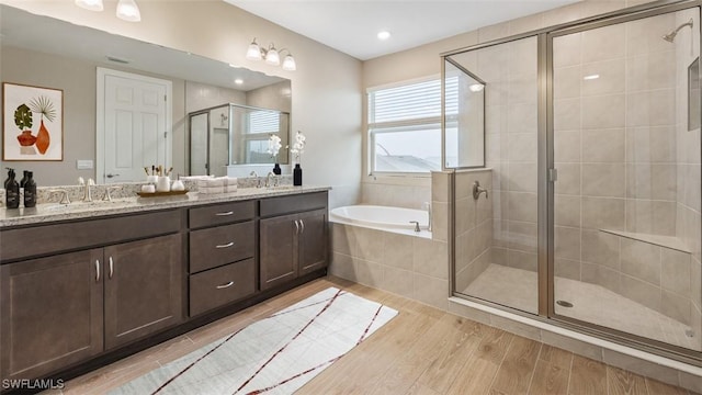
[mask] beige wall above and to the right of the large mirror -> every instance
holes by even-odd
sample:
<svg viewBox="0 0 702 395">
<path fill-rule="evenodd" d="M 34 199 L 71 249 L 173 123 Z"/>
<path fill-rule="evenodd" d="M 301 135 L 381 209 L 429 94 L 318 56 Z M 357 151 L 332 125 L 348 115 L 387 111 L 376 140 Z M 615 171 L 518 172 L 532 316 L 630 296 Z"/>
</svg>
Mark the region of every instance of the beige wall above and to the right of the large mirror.
<svg viewBox="0 0 702 395">
<path fill-rule="evenodd" d="M 305 183 L 331 185 L 331 206 L 358 200 L 361 174 L 360 60 L 219 0 L 140 1 L 140 23 L 115 18 L 114 0 L 106 1 L 105 11 L 101 13 L 80 9 L 72 1 L 1 2 L 291 79 L 292 129 L 303 131 L 307 136 L 302 159 Z M 258 37 L 260 43 L 274 42 L 290 48 L 295 55 L 297 70 L 284 71 L 280 67 L 247 60 L 246 49 L 253 37 Z M 173 146 L 174 150 L 184 151 L 184 145 Z"/>
</svg>

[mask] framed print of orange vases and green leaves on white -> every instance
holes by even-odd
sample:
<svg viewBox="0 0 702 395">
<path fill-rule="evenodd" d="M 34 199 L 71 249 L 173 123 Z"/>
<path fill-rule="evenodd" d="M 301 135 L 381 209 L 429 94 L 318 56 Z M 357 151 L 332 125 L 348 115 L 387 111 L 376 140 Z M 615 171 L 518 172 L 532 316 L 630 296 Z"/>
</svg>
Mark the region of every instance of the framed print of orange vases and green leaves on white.
<svg viewBox="0 0 702 395">
<path fill-rule="evenodd" d="M 64 160 L 64 91 L 2 83 L 2 159 Z"/>
</svg>

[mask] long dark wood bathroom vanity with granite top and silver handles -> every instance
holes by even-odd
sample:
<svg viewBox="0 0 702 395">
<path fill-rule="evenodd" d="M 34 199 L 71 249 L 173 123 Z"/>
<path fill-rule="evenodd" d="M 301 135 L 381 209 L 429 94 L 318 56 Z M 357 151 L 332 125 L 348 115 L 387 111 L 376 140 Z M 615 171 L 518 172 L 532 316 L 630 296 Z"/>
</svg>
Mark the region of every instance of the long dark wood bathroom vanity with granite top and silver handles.
<svg viewBox="0 0 702 395">
<path fill-rule="evenodd" d="M 0 377 L 75 376 L 325 275 L 327 202 L 287 187 L 3 208 Z"/>
</svg>

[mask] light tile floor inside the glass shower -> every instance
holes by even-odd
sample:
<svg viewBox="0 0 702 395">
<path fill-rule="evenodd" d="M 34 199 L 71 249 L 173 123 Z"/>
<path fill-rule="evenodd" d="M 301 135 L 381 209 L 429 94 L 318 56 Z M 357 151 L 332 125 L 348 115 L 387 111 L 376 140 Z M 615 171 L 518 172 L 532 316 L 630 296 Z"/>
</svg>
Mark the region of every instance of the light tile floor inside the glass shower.
<svg viewBox="0 0 702 395">
<path fill-rule="evenodd" d="M 556 314 L 692 350 L 701 349 L 700 334 L 686 335 L 689 326 L 603 286 L 556 278 L 554 287 L 556 301 L 573 304 L 573 307 L 556 305 Z M 463 293 L 536 314 L 536 290 L 535 272 L 490 263 Z"/>
</svg>

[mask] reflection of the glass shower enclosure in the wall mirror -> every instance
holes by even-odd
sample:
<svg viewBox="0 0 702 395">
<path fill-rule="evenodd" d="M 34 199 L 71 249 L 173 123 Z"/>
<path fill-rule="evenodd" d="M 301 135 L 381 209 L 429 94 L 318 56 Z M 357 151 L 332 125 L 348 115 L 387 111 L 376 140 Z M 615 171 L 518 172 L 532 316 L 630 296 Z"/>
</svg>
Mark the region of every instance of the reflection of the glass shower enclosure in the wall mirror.
<svg viewBox="0 0 702 395">
<path fill-rule="evenodd" d="M 287 112 L 228 103 L 193 112 L 189 119 L 191 176 L 226 176 L 230 165 L 288 162 Z M 271 135 L 281 138 L 276 157 L 268 153 Z"/>
</svg>

